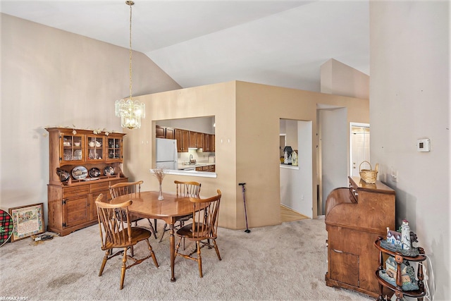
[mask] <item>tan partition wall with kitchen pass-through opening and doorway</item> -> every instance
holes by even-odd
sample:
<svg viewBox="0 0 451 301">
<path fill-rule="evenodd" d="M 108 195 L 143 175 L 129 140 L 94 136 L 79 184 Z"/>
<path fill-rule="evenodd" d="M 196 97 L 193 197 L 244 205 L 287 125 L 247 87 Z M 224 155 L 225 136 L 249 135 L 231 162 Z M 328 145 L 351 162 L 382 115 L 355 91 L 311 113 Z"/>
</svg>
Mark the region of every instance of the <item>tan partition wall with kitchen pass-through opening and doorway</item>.
<svg viewBox="0 0 451 301">
<path fill-rule="evenodd" d="M 173 118 L 215 116 L 217 178 L 167 175 L 163 189 L 172 190 L 173 180 L 197 180 L 202 195 L 219 188 L 223 192 L 219 223 L 226 228 L 245 228 L 242 190 L 246 198 L 249 227 L 280 223 L 280 185 L 278 145 L 280 118 L 313 121 L 316 133 L 316 106 L 326 104 L 347 107 L 347 122 L 368 122 L 369 102 L 365 99 L 333 96 L 250 82 L 224 82 L 215 85 L 148 94 L 138 97 L 146 103 L 147 117 L 141 130 L 126 131 L 128 145 L 126 173 L 144 179 L 144 189 L 157 189 L 158 182 L 149 173 L 154 158 L 154 122 Z M 316 137 L 316 135 L 312 135 Z M 312 141 L 315 152 L 316 138 Z M 348 141 L 349 137 L 343 137 Z M 344 158 L 346 160 L 346 158 Z M 316 175 L 316 156 L 314 162 Z M 316 177 L 314 177 L 316 178 Z M 316 216 L 316 181 L 311 200 Z M 314 203 L 315 202 L 315 203 Z"/>
</svg>

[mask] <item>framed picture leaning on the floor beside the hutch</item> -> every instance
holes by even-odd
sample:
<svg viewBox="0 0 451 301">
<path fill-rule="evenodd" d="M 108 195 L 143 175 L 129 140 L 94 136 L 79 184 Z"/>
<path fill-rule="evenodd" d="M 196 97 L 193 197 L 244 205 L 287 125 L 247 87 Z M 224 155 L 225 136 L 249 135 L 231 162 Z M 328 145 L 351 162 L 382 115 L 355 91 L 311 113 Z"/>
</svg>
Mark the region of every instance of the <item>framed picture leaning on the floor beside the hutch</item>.
<svg viewBox="0 0 451 301">
<path fill-rule="evenodd" d="M 14 224 L 11 242 L 44 233 L 44 203 L 10 208 L 9 214 Z"/>
</svg>

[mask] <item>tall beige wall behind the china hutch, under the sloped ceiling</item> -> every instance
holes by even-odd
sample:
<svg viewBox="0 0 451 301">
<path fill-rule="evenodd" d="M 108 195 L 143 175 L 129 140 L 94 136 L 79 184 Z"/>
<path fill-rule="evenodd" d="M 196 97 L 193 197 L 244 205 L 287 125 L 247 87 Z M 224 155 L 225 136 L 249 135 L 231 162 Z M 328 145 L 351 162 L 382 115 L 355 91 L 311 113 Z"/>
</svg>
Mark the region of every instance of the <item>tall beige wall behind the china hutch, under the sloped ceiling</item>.
<svg viewBox="0 0 451 301">
<path fill-rule="evenodd" d="M 116 99 L 129 94 L 128 49 L 0 14 L 0 207 L 44 203 L 46 126 L 122 131 Z M 144 54 L 133 53 L 133 94 L 178 89 Z"/>
</svg>

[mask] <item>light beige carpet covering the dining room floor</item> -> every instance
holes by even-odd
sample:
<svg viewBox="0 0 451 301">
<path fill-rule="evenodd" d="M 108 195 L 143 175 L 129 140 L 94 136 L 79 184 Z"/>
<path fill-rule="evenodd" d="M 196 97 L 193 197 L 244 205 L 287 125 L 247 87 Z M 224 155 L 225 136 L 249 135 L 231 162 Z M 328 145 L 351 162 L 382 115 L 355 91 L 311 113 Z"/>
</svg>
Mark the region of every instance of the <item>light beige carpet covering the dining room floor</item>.
<svg viewBox="0 0 451 301">
<path fill-rule="evenodd" d="M 145 225 L 144 221 L 140 224 Z M 158 222 L 159 235 L 163 222 Z M 169 235 L 150 240 L 152 259 L 132 266 L 119 290 L 121 256 L 99 268 L 97 225 L 64 237 L 34 242 L 31 238 L 0 248 L 0 297 L 27 300 L 373 300 L 352 290 L 326 286 L 326 228 L 324 219 L 307 219 L 252 228 L 251 233 L 218 229 L 218 247 L 202 249 L 204 277 L 197 262 L 177 257 L 171 283 Z M 191 245 L 187 245 L 189 249 Z M 145 254 L 145 242 L 135 255 Z M 6 299 L 3 299 L 6 300 Z M 11 299 L 13 300 L 13 299 Z M 16 299 L 19 300 L 19 299 Z M 23 299 L 25 300 L 25 299 Z"/>
</svg>

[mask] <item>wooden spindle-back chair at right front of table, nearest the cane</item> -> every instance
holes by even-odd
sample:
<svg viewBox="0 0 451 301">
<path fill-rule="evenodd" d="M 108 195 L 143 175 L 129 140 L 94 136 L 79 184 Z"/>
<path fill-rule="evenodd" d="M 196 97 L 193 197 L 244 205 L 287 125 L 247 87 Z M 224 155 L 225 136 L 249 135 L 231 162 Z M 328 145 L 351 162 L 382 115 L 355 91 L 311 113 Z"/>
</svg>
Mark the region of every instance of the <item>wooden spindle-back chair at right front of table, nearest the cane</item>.
<svg viewBox="0 0 451 301">
<path fill-rule="evenodd" d="M 190 225 L 183 226 L 176 232 L 180 239 L 175 247 L 175 257 L 181 256 L 185 259 L 197 261 L 201 278 L 203 276 L 201 257 L 202 247 L 207 246 L 209 249 L 214 247 L 214 250 L 216 250 L 216 255 L 218 255 L 218 259 L 221 260 L 218 245 L 216 245 L 216 238 L 218 237 L 218 212 L 219 204 L 221 202 L 221 190 L 217 190 L 217 192 L 218 195 L 209 197 L 208 199 L 190 197 L 190 202 L 192 203 L 193 222 Z M 196 242 L 195 250 L 190 252 L 190 254 L 179 253 L 178 249 L 182 239 Z M 213 245 L 210 241 L 213 242 Z M 197 253 L 197 257 L 193 256 L 194 253 Z"/>
</svg>

